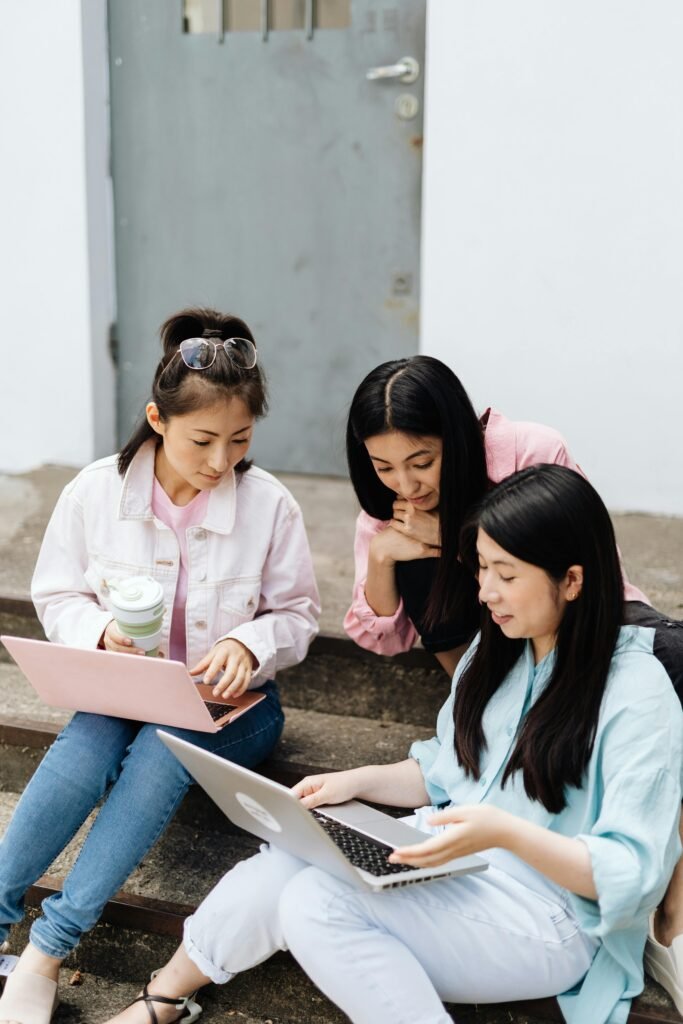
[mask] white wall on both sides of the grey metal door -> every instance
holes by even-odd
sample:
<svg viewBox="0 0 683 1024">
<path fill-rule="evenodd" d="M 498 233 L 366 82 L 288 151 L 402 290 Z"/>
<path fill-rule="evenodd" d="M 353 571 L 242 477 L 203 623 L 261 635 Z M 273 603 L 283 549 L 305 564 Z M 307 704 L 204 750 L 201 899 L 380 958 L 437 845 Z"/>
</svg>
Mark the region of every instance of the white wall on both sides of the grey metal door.
<svg viewBox="0 0 683 1024">
<path fill-rule="evenodd" d="M 105 0 L 0 34 L 0 472 L 112 451 Z M 7 28 L 7 27 L 6 27 Z M 683 4 L 428 0 L 422 347 L 683 514 Z"/>
</svg>

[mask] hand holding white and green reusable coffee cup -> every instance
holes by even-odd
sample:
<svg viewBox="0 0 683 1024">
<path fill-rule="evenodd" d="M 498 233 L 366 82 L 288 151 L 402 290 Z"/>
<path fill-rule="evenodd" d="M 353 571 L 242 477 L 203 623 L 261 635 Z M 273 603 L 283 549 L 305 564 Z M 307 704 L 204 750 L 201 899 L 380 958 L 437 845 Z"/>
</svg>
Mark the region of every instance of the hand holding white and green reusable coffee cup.
<svg viewBox="0 0 683 1024">
<path fill-rule="evenodd" d="M 157 657 L 164 620 L 164 591 L 152 577 L 109 581 L 115 618 L 102 636 L 108 650 Z"/>
</svg>

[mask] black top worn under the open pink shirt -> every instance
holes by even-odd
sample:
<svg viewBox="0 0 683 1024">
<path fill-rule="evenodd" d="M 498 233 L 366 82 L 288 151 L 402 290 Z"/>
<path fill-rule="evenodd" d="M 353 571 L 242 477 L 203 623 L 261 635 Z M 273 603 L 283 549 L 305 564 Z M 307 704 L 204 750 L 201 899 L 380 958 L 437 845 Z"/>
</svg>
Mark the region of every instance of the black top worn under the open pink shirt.
<svg viewBox="0 0 683 1024">
<path fill-rule="evenodd" d="M 479 604 L 476 600 L 476 590 L 472 587 L 472 577 L 456 562 L 454 566 L 455 585 L 468 592 L 465 601 L 465 614 L 459 616 L 457 623 L 439 623 L 432 629 L 424 625 L 425 610 L 431 593 L 438 559 L 417 558 L 412 562 L 396 562 L 396 587 L 400 594 L 405 612 L 420 634 L 422 645 L 430 654 L 442 650 L 452 650 L 463 643 L 469 643 L 479 629 Z M 469 596 L 471 592 L 471 598 Z"/>
</svg>

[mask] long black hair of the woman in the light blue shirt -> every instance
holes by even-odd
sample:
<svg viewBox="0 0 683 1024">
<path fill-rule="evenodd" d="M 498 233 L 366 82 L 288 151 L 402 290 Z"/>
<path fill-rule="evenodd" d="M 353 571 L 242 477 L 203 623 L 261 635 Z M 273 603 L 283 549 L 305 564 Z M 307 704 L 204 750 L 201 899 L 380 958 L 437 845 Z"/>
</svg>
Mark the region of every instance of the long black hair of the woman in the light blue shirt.
<svg viewBox="0 0 683 1024">
<path fill-rule="evenodd" d="M 472 572 L 478 570 L 479 529 L 514 558 L 543 568 L 556 584 L 569 566 L 583 566 L 581 593 L 566 604 L 557 633 L 551 678 L 526 715 L 503 774 L 505 785 L 521 771 L 527 796 L 558 813 L 566 804 L 565 787 L 582 784 L 623 620 L 614 530 L 588 480 L 551 465 L 509 476 L 468 519 L 461 546 Z M 454 705 L 456 756 L 475 779 L 485 748 L 484 710 L 524 643 L 506 638 L 482 608 L 479 644 L 458 682 Z"/>
</svg>

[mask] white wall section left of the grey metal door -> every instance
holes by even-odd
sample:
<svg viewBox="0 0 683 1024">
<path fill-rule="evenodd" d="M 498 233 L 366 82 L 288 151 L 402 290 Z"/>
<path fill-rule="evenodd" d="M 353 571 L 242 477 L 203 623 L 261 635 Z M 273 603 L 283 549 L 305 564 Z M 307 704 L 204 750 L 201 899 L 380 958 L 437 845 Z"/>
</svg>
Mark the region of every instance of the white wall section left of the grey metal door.
<svg viewBox="0 0 683 1024">
<path fill-rule="evenodd" d="M 83 5 L 23 0 L 0 33 L 0 471 L 114 444 L 105 5 Z"/>
</svg>

